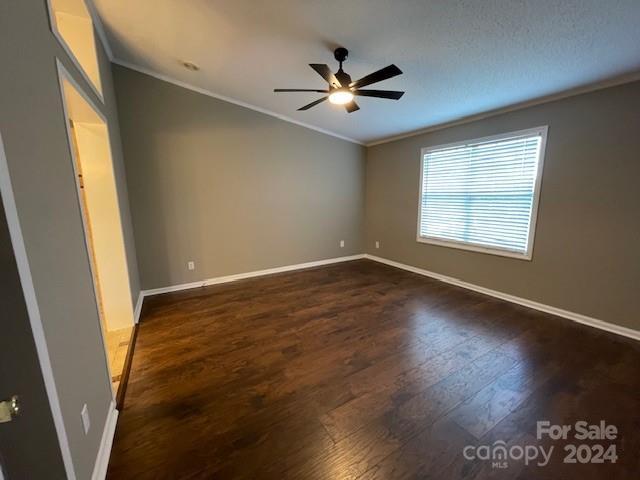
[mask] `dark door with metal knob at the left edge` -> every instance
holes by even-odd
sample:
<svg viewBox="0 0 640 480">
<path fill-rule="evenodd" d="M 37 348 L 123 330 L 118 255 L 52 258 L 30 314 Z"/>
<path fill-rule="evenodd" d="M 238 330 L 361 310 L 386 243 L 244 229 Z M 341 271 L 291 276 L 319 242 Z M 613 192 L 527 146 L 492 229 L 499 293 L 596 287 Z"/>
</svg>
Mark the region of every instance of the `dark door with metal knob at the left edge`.
<svg viewBox="0 0 640 480">
<path fill-rule="evenodd" d="M 0 141 L 0 157 L 2 153 Z M 0 423 L 0 479 L 66 478 L 7 216 L 0 202 L 0 401 L 13 395 L 19 397 L 20 415 Z"/>
</svg>

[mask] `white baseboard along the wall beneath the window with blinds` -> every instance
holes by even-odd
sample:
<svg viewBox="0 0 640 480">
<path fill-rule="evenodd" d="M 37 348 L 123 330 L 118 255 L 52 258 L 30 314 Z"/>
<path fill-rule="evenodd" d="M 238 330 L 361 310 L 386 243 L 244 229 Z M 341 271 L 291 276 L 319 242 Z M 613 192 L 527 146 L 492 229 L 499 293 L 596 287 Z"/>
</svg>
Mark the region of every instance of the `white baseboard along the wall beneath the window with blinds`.
<svg viewBox="0 0 640 480">
<path fill-rule="evenodd" d="M 396 262 L 394 260 L 389 260 L 387 258 L 377 257 L 375 255 L 369 255 L 369 254 L 366 254 L 364 258 L 373 260 L 375 262 L 384 263 L 385 265 L 389 265 L 391 267 L 400 268 L 408 272 L 417 273 L 418 275 L 430 277 L 444 283 L 466 288 L 467 290 L 473 290 L 474 292 L 482 293 L 484 295 L 489 295 L 490 297 L 499 298 L 507 302 L 516 303 L 518 305 L 532 308 L 534 310 L 539 310 L 541 312 L 550 313 L 551 315 L 556 315 L 558 317 L 566 318 L 568 320 L 573 320 L 574 322 L 582 323 L 583 325 L 587 325 L 589 327 L 605 330 L 607 332 L 615 333 L 617 335 L 622 335 L 623 337 L 632 338 L 634 340 L 640 340 L 639 330 L 634 330 L 632 328 L 615 325 L 613 323 L 605 322 L 604 320 L 599 320 L 597 318 L 582 315 L 581 313 L 575 313 L 569 310 L 563 310 L 561 308 L 545 305 L 544 303 L 535 302 L 533 300 L 528 300 L 526 298 L 517 297 L 515 295 L 511 295 L 508 293 L 503 293 L 497 290 L 492 290 L 490 288 L 481 287 L 473 283 L 465 282 L 464 280 L 460 280 L 458 278 L 449 277 L 447 275 L 442 275 L 440 273 L 435 273 L 429 270 L 424 270 L 422 268 L 406 265 L 404 263 Z"/>
</svg>

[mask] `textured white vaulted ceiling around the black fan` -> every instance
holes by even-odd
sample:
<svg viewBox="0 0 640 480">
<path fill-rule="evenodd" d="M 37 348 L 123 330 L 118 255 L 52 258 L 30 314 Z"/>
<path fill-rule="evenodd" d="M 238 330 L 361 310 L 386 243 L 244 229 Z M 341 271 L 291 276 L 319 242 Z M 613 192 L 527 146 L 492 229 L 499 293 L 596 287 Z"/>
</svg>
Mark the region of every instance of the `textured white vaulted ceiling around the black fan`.
<svg viewBox="0 0 640 480">
<path fill-rule="evenodd" d="M 368 143 L 640 70 L 640 0 L 94 0 L 116 61 L 155 71 Z M 324 88 L 308 63 L 376 84 L 399 101 L 360 98 L 296 109 Z M 180 61 L 198 64 L 190 72 Z"/>
</svg>

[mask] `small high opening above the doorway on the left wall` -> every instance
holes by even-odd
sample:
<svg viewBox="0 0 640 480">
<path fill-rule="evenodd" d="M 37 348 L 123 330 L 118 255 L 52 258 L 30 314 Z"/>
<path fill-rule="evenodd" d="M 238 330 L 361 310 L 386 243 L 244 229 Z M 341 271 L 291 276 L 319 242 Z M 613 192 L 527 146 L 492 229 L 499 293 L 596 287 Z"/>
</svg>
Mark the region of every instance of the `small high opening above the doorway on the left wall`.
<svg viewBox="0 0 640 480">
<path fill-rule="evenodd" d="M 96 95 L 103 100 L 93 20 L 84 0 L 48 0 L 48 4 L 51 30 Z"/>
</svg>

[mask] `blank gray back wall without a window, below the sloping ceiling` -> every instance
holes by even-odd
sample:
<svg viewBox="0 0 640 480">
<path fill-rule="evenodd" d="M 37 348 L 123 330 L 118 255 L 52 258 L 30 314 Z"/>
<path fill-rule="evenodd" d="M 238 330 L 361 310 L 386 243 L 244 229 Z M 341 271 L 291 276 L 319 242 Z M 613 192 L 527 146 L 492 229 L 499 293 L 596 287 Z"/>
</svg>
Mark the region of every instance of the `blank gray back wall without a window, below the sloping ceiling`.
<svg viewBox="0 0 640 480">
<path fill-rule="evenodd" d="M 363 147 L 124 67 L 114 79 L 143 289 L 362 253 Z"/>
</svg>

